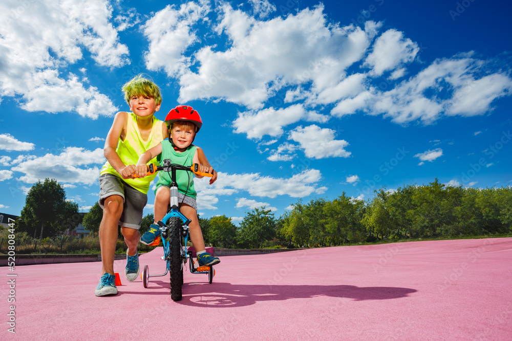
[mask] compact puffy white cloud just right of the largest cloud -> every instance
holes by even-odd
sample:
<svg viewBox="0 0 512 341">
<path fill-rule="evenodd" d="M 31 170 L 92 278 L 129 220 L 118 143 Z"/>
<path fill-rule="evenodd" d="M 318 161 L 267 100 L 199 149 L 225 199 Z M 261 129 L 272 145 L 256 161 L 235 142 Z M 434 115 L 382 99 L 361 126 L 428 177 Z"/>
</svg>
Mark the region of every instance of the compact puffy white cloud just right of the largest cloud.
<svg viewBox="0 0 512 341">
<path fill-rule="evenodd" d="M 402 63 L 413 61 L 418 52 L 417 43 L 404 38 L 402 32 L 391 29 L 377 38 L 364 65 L 372 67 L 375 75 L 380 76 Z"/>
</svg>

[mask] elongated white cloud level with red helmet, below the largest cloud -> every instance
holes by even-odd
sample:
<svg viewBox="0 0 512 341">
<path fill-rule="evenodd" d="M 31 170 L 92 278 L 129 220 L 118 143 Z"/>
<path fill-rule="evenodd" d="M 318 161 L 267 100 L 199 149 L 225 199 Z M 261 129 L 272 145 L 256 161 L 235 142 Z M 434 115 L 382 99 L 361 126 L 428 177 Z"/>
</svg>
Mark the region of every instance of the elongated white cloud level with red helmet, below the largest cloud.
<svg viewBox="0 0 512 341">
<path fill-rule="evenodd" d="M 284 132 L 283 126 L 300 121 L 305 114 L 300 104 L 278 110 L 270 107 L 258 112 L 241 112 L 233 121 L 234 132 L 246 133 L 248 139 L 261 139 L 264 135 L 278 137 Z"/>
</svg>

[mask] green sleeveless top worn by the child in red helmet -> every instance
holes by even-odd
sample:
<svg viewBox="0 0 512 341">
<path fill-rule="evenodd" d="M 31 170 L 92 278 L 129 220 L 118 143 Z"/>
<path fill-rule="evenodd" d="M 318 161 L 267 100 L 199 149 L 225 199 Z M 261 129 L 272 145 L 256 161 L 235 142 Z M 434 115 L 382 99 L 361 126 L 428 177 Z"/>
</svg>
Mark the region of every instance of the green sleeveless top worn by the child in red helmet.
<svg viewBox="0 0 512 341">
<path fill-rule="evenodd" d="M 193 158 L 197 150 L 196 146 L 190 145 L 184 152 L 179 153 L 174 150 L 173 146 L 169 143 L 169 140 L 164 140 L 161 144 L 162 153 L 157 156 L 157 161 L 160 166 L 163 166 L 163 161 L 166 158 L 169 158 L 173 164 L 179 164 L 182 166 L 191 166 L 194 163 Z M 170 183 L 170 172 L 159 171 L 157 189 L 160 185 L 169 186 Z M 197 193 L 194 189 L 194 173 L 177 170 L 176 183 L 178 183 L 178 192 L 188 195 L 194 199 L 196 198 Z"/>
</svg>

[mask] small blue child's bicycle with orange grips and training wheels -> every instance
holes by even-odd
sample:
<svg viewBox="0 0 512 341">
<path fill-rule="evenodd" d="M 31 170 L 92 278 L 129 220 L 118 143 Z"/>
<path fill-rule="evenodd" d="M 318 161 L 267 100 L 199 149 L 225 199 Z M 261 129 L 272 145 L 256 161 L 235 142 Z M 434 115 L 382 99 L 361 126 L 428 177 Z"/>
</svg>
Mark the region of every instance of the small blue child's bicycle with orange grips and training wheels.
<svg viewBox="0 0 512 341">
<path fill-rule="evenodd" d="M 186 244 L 188 240 L 188 224 L 191 222 L 190 219 L 185 217 L 179 211 L 178 203 L 178 184 L 176 183 L 176 171 L 183 170 L 193 172 L 202 176 L 213 176 L 210 173 L 198 172 L 199 165 L 194 164 L 192 166 L 183 166 L 173 164 L 169 159 L 163 161 L 163 166 L 148 165 L 147 175 L 154 174 L 157 171 L 170 172 L 172 183 L 170 184 L 170 209 L 167 214 L 158 221 L 160 226 L 160 236 L 163 241 L 163 260 L 166 261 L 166 269 L 163 274 L 150 275 L 149 267 L 144 266 L 140 277 L 144 288 L 147 288 L 147 283 L 150 277 L 159 277 L 170 274 L 170 297 L 173 301 L 180 301 L 182 299 L 182 285 L 183 285 L 183 268 L 187 260 L 189 261 L 190 272 L 192 274 L 206 274 L 208 275 L 208 283 L 211 284 L 215 270 L 213 266 L 200 266 L 198 268 L 194 265 L 192 259 L 192 251 L 187 251 Z M 155 239 L 151 245 L 160 244 L 160 236 Z M 186 267 L 185 267 L 186 268 Z"/>
</svg>

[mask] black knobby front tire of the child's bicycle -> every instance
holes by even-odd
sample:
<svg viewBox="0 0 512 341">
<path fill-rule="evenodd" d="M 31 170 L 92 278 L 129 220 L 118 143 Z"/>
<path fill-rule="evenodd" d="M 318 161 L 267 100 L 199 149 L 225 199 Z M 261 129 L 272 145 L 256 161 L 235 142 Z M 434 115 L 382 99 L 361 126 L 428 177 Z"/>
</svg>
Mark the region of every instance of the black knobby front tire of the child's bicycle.
<svg viewBox="0 0 512 341">
<path fill-rule="evenodd" d="M 167 222 L 169 232 L 170 298 L 181 301 L 183 285 L 183 259 L 181 257 L 181 220 L 171 217 Z"/>
</svg>

